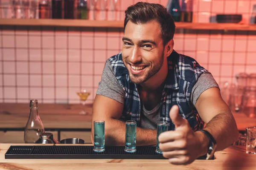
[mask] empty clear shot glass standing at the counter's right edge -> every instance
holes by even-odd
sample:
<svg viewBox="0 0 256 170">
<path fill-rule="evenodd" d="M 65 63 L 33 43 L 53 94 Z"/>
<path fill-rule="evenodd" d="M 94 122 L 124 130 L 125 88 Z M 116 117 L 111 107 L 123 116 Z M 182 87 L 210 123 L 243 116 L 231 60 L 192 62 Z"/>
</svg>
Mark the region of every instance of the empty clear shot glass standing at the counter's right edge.
<svg viewBox="0 0 256 170">
<path fill-rule="evenodd" d="M 246 127 L 246 153 L 256 154 L 256 127 Z"/>
</svg>

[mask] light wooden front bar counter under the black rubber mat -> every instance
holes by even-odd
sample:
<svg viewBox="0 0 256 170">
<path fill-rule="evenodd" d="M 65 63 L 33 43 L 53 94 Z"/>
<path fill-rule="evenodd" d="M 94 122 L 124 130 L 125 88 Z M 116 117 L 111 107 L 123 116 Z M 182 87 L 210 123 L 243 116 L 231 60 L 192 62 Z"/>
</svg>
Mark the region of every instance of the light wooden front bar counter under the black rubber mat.
<svg viewBox="0 0 256 170">
<path fill-rule="evenodd" d="M 255 170 L 256 155 L 245 147 L 230 146 L 215 153 L 214 160 L 195 160 L 189 165 L 172 165 L 168 160 L 152 159 L 5 159 L 11 145 L 0 144 L 0 170 Z"/>
</svg>

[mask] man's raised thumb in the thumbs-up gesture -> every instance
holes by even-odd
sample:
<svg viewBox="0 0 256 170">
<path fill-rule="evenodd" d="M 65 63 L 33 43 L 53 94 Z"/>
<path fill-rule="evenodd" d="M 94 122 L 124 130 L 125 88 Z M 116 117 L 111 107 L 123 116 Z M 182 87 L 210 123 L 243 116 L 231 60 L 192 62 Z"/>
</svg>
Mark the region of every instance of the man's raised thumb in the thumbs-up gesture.
<svg viewBox="0 0 256 170">
<path fill-rule="evenodd" d="M 179 115 L 179 107 L 177 105 L 172 106 L 169 116 L 174 123 L 175 128 L 186 125 L 186 119 L 183 119 L 183 117 Z"/>
</svg>

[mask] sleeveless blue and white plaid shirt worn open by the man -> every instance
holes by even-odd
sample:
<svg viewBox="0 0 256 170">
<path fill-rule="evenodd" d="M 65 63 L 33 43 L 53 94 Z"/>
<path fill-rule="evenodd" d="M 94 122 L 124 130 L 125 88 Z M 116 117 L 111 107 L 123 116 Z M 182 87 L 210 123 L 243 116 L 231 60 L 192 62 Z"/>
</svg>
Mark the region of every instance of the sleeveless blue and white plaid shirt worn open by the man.
<svg viewBox="0 0 256 170">
<path fill-rule="evenodd" d="M 131 82 L 128 70 L 122 61 L 122 53 L 109 58 L 113 73 L 125 91 L 125 103 L 121 120 L 134 120 L 140 125 L 141 102 L 137 84 Z M 168 123 L 168 130 L 175 130 L 175 125 L 169 117 L 173 105 L 178 105 L 179 114 L 188 120 L 190 127 L 196 131 L 204 126 L 204 122 L 190 100 L 190 94 L 198 77 L 206 69 L 201 67 L 195 59 L 173 51 L 168 57 L 168 74 L 163 89 L 160 120 Z"/>
</svg>

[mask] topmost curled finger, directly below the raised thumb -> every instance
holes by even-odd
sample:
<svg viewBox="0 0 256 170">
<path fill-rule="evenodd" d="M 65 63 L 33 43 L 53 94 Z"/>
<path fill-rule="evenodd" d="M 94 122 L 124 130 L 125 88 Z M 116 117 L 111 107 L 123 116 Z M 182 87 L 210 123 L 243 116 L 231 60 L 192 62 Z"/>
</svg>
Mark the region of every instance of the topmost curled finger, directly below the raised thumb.
<svg viewBox="0 0 256 170">
<path fill-rule="evenodd" d="M 183 133 L 180 131 L 167 131 L 163 132 L 158 136 L 158 141 L 160 143 L 172 142 L 183 138 Z"/>
</svg>

